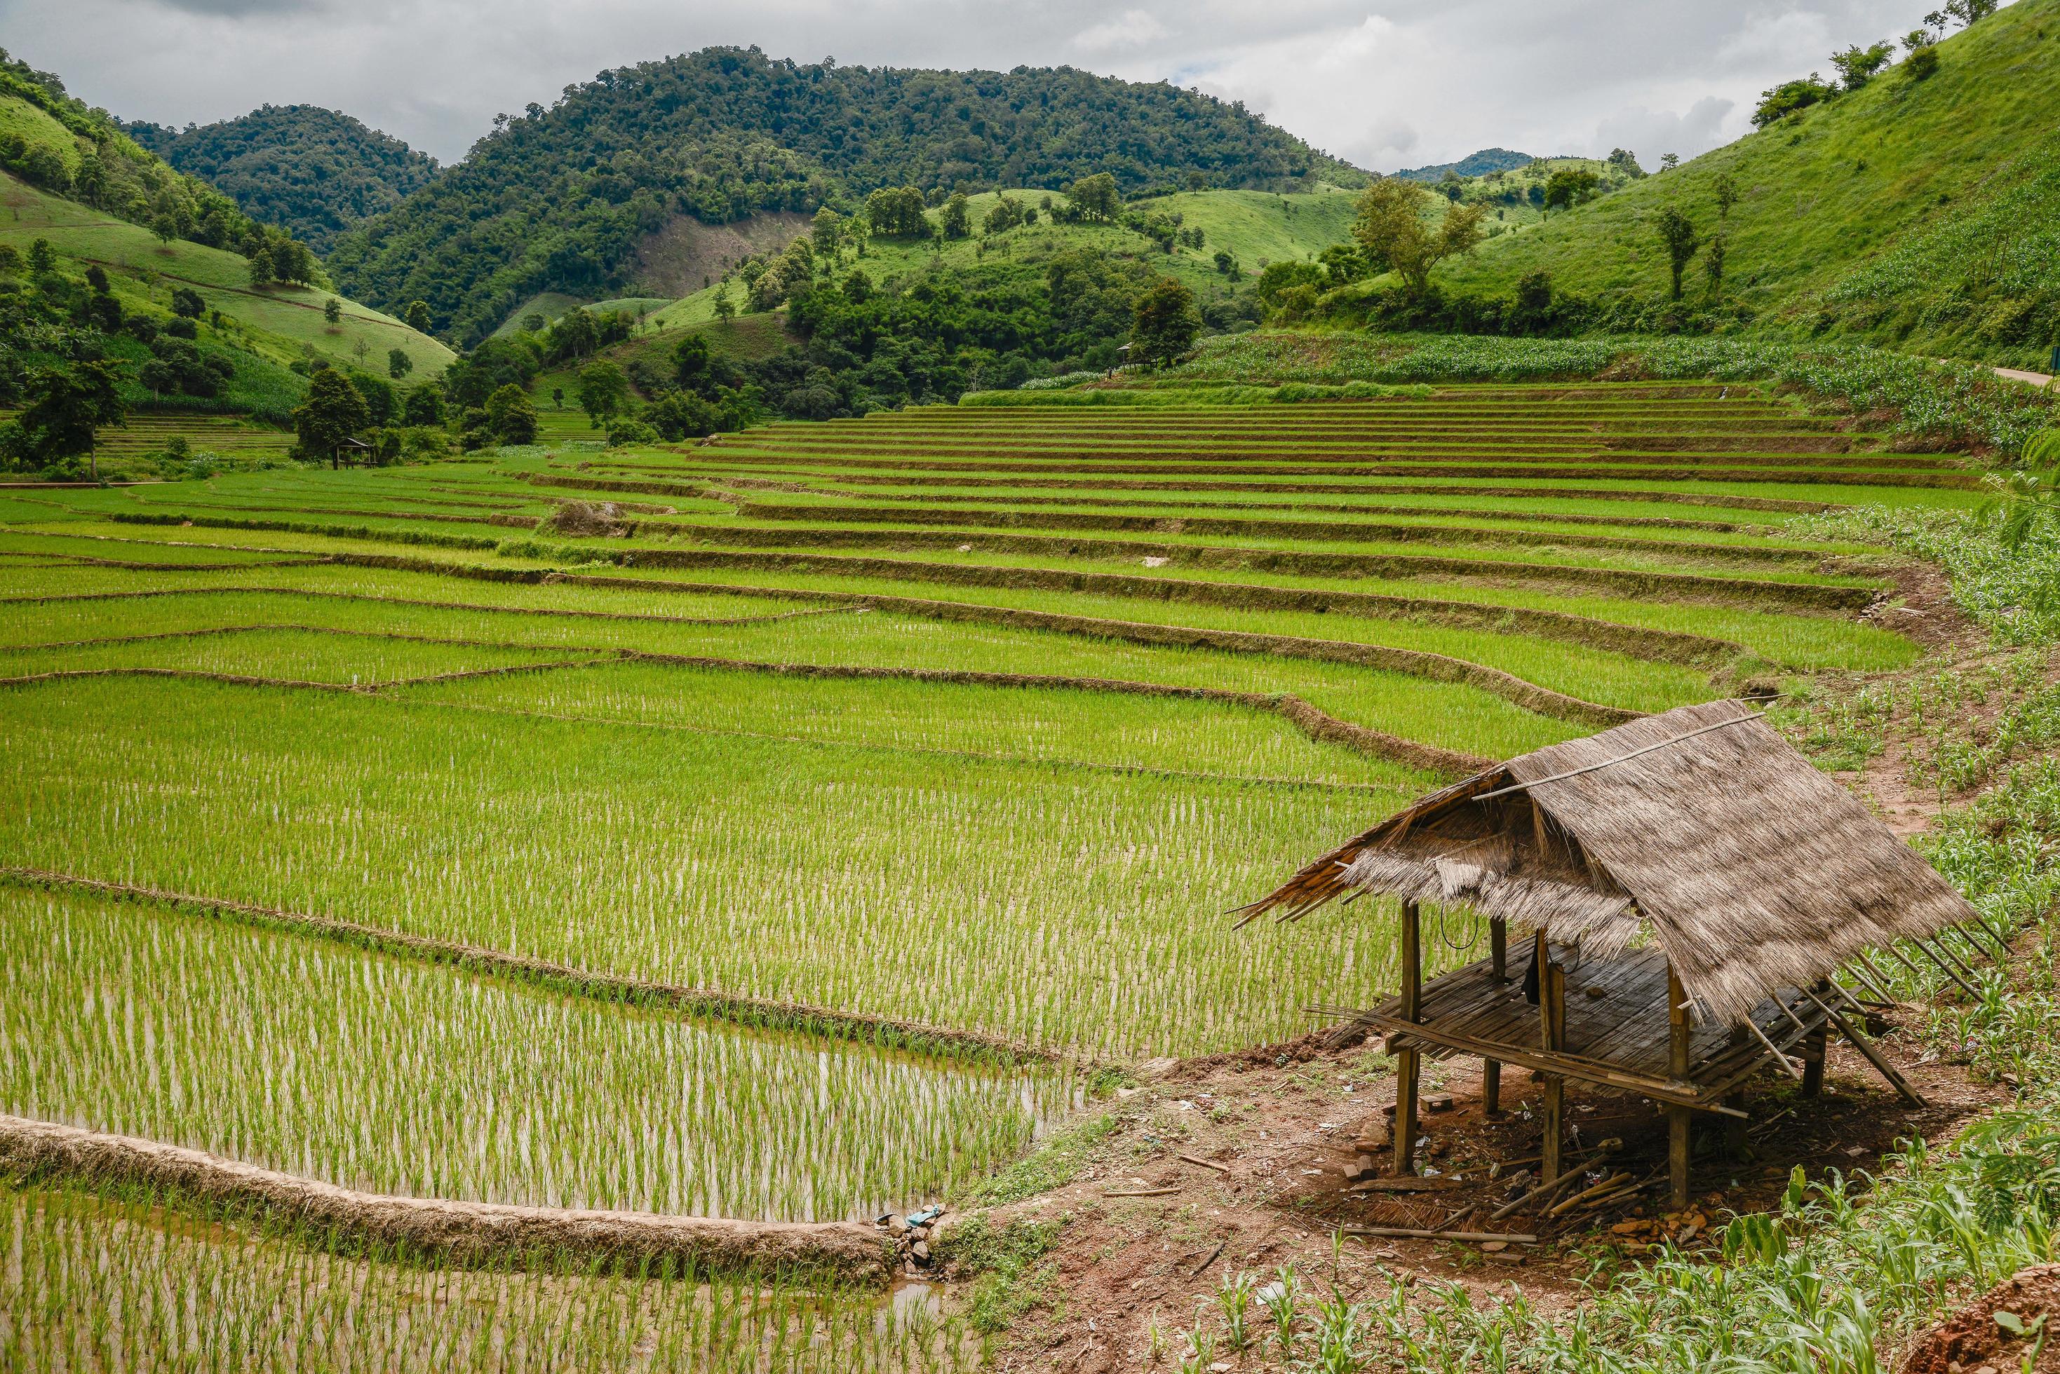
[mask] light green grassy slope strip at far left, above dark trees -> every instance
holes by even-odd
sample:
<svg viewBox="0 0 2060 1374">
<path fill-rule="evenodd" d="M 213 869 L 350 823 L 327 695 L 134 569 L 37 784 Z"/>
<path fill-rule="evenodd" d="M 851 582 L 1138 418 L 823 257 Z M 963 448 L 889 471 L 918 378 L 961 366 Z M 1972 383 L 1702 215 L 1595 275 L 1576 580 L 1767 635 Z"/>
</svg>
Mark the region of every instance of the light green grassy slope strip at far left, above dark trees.
<svg viewBox="0 0 2060 1374">
<path fill-rule="evenodd" d="M 412 377 L 422 379 L 455 356 L 400 319 L 330 290 L 293 284 L 255 290 L 249 284 L 249 264 L 239 253 L 185 239 L 161 243 L 146 229 L 0 173 L 0 243 L 27 253 L 37 239 L 80 266 L 99 264 L 159 305 L 169 307 L 177 286 L 200 293 L 210 311 L 220 311 L 241 328 L 251 352 L 282 365 L 317 356 L 383 373 L 387 350 L 400 348 L 414 363 Z M 340 305 L 334 325 L 323 319 L 323 305 L 332 297 Z"/>
</svg>

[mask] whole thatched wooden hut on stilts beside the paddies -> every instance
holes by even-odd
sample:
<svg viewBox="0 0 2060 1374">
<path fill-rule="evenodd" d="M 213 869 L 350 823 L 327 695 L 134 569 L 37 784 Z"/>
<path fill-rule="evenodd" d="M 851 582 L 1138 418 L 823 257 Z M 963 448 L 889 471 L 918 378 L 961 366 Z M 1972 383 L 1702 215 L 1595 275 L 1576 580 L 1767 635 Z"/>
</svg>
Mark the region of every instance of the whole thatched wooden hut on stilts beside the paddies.
<svg viewBox="0 0 2060 1374">
<path fill-rule="evenodd" d="M 1543 1075 L 1545 1182 L 1559 1176 L 1566 1079 L 1658 1102 L 1675 1207 L 1689 1197 L 1691 1114 L 1728 1117 L 1741 1141 L 1743 1084 L 1778 1065 L 1815 1094 L 1833 1028 L 1920 1102 L 1833 974 L 1850 966 L 1885 999 L 1862 972 L 1881 974 L 1870 948 L 1908 964 L 1903 943 L 1959 978 L 1945 931 L 1990 958 L 2000 943 L 1737 700 L 1555 744 L 1421 797 L 1242 908 L 1240 925 L 1360 892 L 1401 898 L 1401 993 L 1355 1014 L 1397 1055 L 1397 1172 L 1413 1164 L 1419 1057 L 1479 1055 L 1487 1110 L 1504 1063 Z M 1489 956 L 1426 985 L 1421 902 L 1485 917 Z M 1510 925 L 1531 933 L 1514 964 Z"/>
</svg>

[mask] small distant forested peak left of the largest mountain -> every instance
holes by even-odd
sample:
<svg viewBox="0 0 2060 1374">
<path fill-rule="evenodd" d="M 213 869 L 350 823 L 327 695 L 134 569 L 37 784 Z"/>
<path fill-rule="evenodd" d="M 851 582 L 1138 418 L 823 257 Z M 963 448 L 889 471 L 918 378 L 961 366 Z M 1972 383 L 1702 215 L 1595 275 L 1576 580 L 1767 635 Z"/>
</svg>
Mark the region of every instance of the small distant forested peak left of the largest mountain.
<svg viewBox="0 0 2060 1374">
<path fill-rule="evenodd" d="M 227 192 L 251 218 L 330 251 L 340 233 L 391 210 L 437 175 L 437 161 L 319 105 L 264 105 L 220 124 L 128 124 L 183 173 Z"/>
</svg>

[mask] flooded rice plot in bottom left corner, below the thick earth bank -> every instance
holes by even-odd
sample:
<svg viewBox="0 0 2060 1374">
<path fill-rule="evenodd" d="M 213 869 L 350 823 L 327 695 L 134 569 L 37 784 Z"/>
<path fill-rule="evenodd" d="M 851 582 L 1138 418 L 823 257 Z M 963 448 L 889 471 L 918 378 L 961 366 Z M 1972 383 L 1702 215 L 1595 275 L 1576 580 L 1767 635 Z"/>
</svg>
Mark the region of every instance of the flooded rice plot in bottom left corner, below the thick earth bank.
<svg viewBox="0 0 2060 1374">
<path fill-rule="evenodd" d="M 0 1189 L 0 1351 L 21 1374 L 707 1370 L 958 1374 L 962 1318 L 869 1296 L 577 1263 L 453 1271 L 148 1195 Z M 915 1308 L 913 1308 L 915 1310 Z"/>
</svg>

